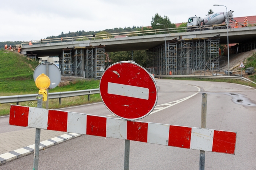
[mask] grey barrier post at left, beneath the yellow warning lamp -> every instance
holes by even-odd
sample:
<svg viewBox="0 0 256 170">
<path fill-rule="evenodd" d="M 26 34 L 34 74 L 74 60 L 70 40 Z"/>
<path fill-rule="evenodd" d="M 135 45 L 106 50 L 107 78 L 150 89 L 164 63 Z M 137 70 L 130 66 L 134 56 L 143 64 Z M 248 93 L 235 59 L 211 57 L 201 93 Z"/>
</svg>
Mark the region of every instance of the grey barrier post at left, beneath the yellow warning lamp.
<svg viewBox="0 0 256 170">
<path fill-rule="evenodd" d="M 38 94 L 38 97 L 37 97 L 37 99 L 38 99 L 37 107 L 38 108 L 42 108 L 42 97 L 43 97 L 42 94 Z M 33 170 L 38 170 L 40 134 L 41 134 L 41 129 L 36 128 Z"/>
</svg>

